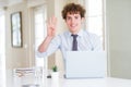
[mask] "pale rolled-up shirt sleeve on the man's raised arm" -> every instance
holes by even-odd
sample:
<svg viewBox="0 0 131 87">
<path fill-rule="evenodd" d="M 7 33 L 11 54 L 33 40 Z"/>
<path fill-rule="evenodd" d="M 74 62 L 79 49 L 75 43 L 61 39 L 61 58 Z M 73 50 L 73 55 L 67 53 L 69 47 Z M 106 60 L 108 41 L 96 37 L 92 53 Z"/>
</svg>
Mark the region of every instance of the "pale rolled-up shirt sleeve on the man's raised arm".
<svg viewBox="0 0 131 87">
<path fill-rule="evenodd" d="M 49 47 L 47 48 L 47 50 L 45 52 L 39 52 L 39 51 L 36 51 L 37 53 L 37 57 L 39 58 L 45 58 L 45 57 L 48 57 L 50 55 L 51 53 L 53 53 L 56 50 L 59 49 L 60 47 L 60 36 L 56 36 L 49 44 Z"/>
</svg>

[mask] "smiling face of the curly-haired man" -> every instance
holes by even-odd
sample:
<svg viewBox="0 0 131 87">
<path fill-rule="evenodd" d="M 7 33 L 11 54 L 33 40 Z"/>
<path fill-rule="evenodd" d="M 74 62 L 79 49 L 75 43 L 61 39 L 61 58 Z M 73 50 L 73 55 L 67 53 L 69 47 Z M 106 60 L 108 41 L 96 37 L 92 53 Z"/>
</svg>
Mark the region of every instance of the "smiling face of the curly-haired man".
<svg viewBox="0 0 131 87">
<path fill-rule="evenodd" d="M 81 29 L 83 18 L 81 17 L 80 13 L 68 13 L 66 23 L 69 27 L 69 30 L 73 34 L 78 34 L 78 32 Z"/>
</svg>

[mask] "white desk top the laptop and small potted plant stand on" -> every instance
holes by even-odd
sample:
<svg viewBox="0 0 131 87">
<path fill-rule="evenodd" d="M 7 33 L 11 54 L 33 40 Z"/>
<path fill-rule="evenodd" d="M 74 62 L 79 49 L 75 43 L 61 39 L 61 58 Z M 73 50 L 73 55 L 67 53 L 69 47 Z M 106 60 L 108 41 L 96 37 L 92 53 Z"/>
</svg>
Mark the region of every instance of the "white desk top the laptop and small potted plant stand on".
<svg viewBox="0 0 131 87">
<path fill-rule="evenodd" d="M 13 75 L 8 75 L 7 87 L 15 87 L 13 84 Z M 31 79 L 28 79 L 31 82 Z M 27 79 L 26 79 L 27 83 Z M 19 82 L 16 80 L 16 84 Z M 22 87 L 22 86 L 16 86 Z M 35 87 L 35 86 L 31 86 Z M 43 86 L 37 87 L 131 87 L 131 79 L 122 78 L 81 78 L 81 79 L 66 79 L 60 77 L 58 80 L 52 80 L 51 78 L 44 78 Z"/>
</svg>

